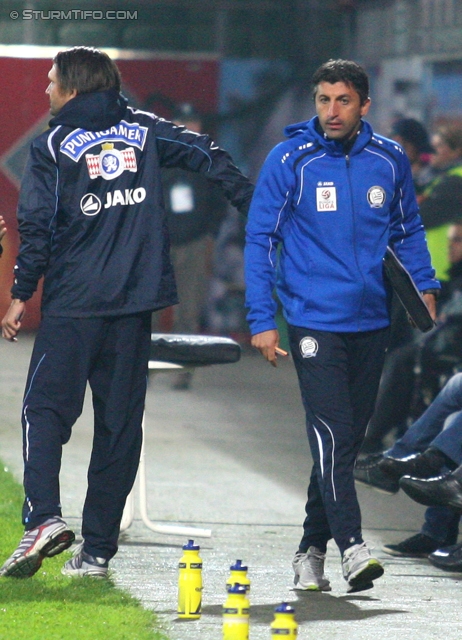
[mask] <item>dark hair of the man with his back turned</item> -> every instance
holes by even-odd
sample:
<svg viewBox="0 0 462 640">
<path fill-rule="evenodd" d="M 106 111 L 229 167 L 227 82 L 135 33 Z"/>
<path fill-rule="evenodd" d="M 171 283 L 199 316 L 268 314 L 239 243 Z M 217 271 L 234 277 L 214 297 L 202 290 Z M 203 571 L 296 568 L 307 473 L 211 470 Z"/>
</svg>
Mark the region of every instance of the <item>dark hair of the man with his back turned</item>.
<svg viewBox="0 0 462 640">
<path fill-rule="evenodd" d="M 53 64 L 64 91 L 120 91 L 120 71 L 116 63 L 103 51 L 92 47 L 73 47 L 60 51 L 54 57 Z"/>
</svg>

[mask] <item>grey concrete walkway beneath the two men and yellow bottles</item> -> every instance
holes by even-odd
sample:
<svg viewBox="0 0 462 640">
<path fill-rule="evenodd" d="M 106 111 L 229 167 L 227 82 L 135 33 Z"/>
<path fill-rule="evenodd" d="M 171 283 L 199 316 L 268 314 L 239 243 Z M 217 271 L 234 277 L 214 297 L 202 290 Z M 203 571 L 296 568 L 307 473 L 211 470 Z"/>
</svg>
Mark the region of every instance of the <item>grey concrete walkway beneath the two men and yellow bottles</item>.
<svg viewBox="0 0 462 640">
<path fill-rule="evenodd" d="M 32 337 L 0 341 L 0 457 L 21 478 L 19 413 Z M 242 559 L 251 579 L 251 640 L 267 640 L 274 607 L 296 610 L 299 638 L 319 640 L 459 640 L 462 574 L 426 560 L 381 551 L 419 530 L 424 509 L 401 493 L 358 487 L 365 539 L 386 565 L 373 590 L 347 595 L 335 545 L 328 549 L 330 593 L 291 588 L 301 535 L 310 458 L 290 360 L 273 369 L 258 354 L 196 371 L 190 391 L 173 391 L 168 374 L 151 378 L 146 406 L 150 517 L 212 529 L 196 539 L 203 559 L 200 620 L 176 619 L 177 564 L 185 537 L 153 533 L 138 512 L 111 563 L 115 582 L 154 609 L 172 640 L 219 640 L 229 566 Z M 92 437 L 88 400 L 65 447 L 64 515 L 75 528 L 86 490 Z M 19 514 L 18 514 L 19 517 Z M 1 559 L 11 550 L 0 549 Z M 134 639 L 135 640 L 135 639 Z"/>
</svg>

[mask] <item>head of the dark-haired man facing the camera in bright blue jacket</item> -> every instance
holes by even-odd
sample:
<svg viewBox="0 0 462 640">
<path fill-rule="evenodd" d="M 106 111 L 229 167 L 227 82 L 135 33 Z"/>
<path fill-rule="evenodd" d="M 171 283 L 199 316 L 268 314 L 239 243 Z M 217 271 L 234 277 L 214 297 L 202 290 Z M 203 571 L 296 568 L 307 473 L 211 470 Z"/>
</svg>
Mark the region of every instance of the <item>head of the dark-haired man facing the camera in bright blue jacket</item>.
<svg viewBox="0 0 462 640">
<path fill-rule="evenodd" d="M 369 80 L 352 60 L 328 60 L 312 78 L 319 124 L 328 138 L 350 140 L 370 106 Z"/>
</svg>

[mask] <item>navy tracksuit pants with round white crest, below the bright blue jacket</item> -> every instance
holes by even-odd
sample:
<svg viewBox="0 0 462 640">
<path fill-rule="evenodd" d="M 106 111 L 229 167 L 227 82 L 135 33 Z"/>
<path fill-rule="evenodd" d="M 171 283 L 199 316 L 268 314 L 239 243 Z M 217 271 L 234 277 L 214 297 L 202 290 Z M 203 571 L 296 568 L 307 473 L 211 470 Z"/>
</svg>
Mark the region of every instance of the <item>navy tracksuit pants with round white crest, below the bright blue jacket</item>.
<svg viewBox="0 0 462 640">
<path fill-rule="evenodd" d="M 289 326 L 314 465 L 299 550 L 363 542 L 353 469 L 372 416 L 388 329 L 332 333 Z"/>
</svg>

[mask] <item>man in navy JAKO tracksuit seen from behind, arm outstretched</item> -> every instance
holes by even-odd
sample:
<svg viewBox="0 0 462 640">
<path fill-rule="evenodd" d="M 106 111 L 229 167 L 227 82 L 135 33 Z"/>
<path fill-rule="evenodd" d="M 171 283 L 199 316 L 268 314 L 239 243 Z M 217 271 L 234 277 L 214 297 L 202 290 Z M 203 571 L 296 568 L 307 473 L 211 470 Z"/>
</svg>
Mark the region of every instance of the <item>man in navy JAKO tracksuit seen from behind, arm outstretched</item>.
<svg viewBox="0 0 462 640">
<path fill-rule="evenodd" d="M 59 470 L 88 381 L 95 435 L 84 545 L 63 572 L 105 576 L 138 468 L 151 312 L 177 302 L 160 168 L 203 174 L 243 213 L 253 187 L 207 135 L 127 106 L 106 54 L 62 51 L 49 79 L 54 117 L 25 169 L 13 301 L 2 322 L 14 341 L 44 276 L 22 413 L 26 531 L 0 575 L 31 576 L 74 539 L 61 517 Z"/>
</svg>

